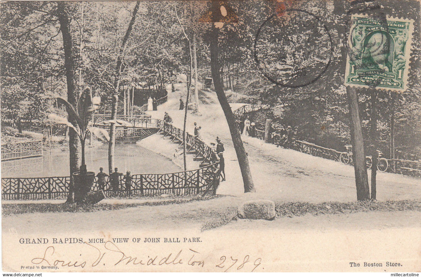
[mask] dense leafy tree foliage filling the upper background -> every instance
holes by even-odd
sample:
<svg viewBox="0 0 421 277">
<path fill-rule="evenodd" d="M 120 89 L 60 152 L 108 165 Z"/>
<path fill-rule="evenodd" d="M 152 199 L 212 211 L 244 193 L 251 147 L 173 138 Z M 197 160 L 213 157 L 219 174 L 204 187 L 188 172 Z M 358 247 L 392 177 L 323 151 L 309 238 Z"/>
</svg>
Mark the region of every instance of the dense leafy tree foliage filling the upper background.
<svg viewBox="0 0 421 277">
<path fill-rule="evenodd" d="M 359 1 L 364 2 L 364 1 Z M 237 22 L 220 29 L 221 74 L 230 96 L 237 94 L 249 102 L 271 105 L 285 103 L 282 112 L 274 110 L 279 125 L 296 128 L 303 139 L 340 149 L 350 140 L 348 104 L 344 83 L 347 19 L 351 1 L 223 1 L 235 13 Z M 122 35 L 131 19 L 134 2 L 72 2 L 68 5 L 74 39 L 75 84 L 79 94 L 85 85 L 101 96 L 109 110 L 114 93 L 115 66 Z M 186 37 L 197 36 L 199 75 L 209 77 L 209 2 L 141 1 L 130 39 L 123 51 L 120 85 L 149 88 L 176 81 L 189 69 Z M 358 5 L 355 12 L 382 11 L 388 16 L 413 19 L 414 33 L 407 91 L 380 91 L 378 96 L 379 148 L 389 156 L 391 118 L 394 115 L 397 157 L 421 157 L 421 31 L 420 3 L 415 0 L 379 0 Z M 374 8 L 373 8 L 374 7 Z M 3 123 L 43 120 L 45 112 L 57 109 L 56 96 L 66 95 L 62 38 L 55 2 L 3 2 L 0 21 L 1 109 Z M 326 72 L 306 86 L 276 85 L 261 74 L 254 56 L 259 27 L 276 13 L 280 20 L 287 8 L 298 8 L 317 16 L 332 40 Z M 375 11 L 373 11 L 373 9 Z M 292 34 L 290 40 L 301 38 Z M 285 46 L 285 45 L 283 45 Z M 309 39 L 316 49 L 320 41 Z M 274 48 L 275 49 L 275 48 Z M 276 49 L 275 49 L 276 50 Z M 282 52 L 282 48 L 280 48 Z M 311 72 L 310 72 L 311 73 Z M 201 81 L 202 81 L 201 80 Z M 369 89 L 360 89 L 360 116 L 366 145 L 371 99 Z M 123 90 L 121 90 L 120 101 Z M 140 97 L 140 96 L 139 96 Z M 232 99 L 235 98 L 234 96 Z M 123 105 L 119 105 L 122 107 Z"/>
</svg>

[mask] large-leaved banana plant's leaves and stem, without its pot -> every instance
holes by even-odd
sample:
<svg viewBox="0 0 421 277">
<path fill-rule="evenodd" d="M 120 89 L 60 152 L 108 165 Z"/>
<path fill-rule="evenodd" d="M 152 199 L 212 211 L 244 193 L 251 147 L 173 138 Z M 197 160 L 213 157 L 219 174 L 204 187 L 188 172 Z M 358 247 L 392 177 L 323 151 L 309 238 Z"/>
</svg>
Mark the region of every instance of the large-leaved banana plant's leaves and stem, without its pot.
<svg viewBox="0 0 421 277">
<path fill-rule="evenodd" d="M 83 90 L 82 95 L 77 101 L 76 107 L 73 107 L 73 105 L 70 104 L 67 100 L 60 97 L 57 98 L 57 102 L 66 107 L 69 117 L 76 119 L 76 126 L 70 123 L 66 118 L 55 114 L 48 115 L 48 118 L 55 123 L 67 125 L 69 128 L 75 130 L 77 136 L 80 139 L 82 149 L 82 165 L 80 166 L 80 173 L 86 174 L 85 141 L 88 137 L 88 134 L 91 133 L 103 141 L 109 141 L 109 135 L 106 130 L 96 128 L 92 125 L 92 116 L 96 109 L 99 108 L 99 104 L 101 104 L 101 97 L 92 97 L 91 88 L 87 87 Z"/>
</svg>

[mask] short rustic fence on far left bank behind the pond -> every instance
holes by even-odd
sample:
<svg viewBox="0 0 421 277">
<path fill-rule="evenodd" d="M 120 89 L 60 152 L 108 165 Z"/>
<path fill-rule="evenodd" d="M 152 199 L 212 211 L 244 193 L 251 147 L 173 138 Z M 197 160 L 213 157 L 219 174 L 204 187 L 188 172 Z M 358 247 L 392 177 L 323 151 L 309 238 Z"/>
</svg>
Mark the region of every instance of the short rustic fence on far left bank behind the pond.
<svg viewBox="0 0 421 277">
<path fill-rule="evenodd" d="M 43 155 L 43 141 L 38 139 L 19 139 L 1 146 L 1 160 L 13 160 Z"/>
</svg>

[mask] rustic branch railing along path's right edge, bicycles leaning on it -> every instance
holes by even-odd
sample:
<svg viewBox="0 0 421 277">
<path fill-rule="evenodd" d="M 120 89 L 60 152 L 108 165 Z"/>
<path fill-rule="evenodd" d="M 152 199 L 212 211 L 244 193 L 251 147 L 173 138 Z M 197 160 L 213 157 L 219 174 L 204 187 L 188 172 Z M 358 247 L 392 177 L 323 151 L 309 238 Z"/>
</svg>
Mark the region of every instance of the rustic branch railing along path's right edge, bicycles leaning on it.
<svg viewBox="0 0 421 277">
<path fill-rule="evenodd" d="M 241 117 L 244 116 L 247 112 L 257 111 L 259 106 L 261 106 L 261 109 L 266 109 L 268 107 L 266 105 L 250 104 L 242 106 L 239 109 L 235 110 L 234 115 L 236 117 L 237 123 L 240 123 Z M 254 137 L 264 140 L 264 131 L 256 129 L 255 133 L 256 134 L 254 135 Z M 293 149 L 306 154 L 310 154 L 312 156 L 322 157 L 338 162 L 341 162 L 341 154 L 346 154 L 346 152 L 340 152 L 335 149 L 322 147 L 308 141 L 290 138 L 290 136 L 285 136 L 285 134 L 281 134 L 279 131 L 274 131 L 272 133 L 272 143 L 278 146 L 282 146 L 284 148 Z M 386 166 L 387 167 L 384 168 L 382 171 L 421 177 L 421 162 L 387 159 Z"/>
</svg>

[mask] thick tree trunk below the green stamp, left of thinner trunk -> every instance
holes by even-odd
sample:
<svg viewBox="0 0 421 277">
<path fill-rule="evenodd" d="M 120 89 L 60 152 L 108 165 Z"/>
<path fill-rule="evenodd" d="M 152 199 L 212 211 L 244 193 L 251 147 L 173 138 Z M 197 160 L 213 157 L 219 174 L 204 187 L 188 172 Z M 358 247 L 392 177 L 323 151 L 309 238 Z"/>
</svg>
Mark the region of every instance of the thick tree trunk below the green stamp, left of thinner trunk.
<svg viewBox="0 0 421 277">
<path fill-rule="evenodd" d="M 360 114 L 358 112 L 358 96 L 355 88 L 346 87 L 348 95 L 349 115 L 351 123 L 352 156 L 354 160 L 355 186 L 357 187 L 357 200 L 370 199 L 368 187 L 367 167 L 365 165 L 364 140 Z"/>
</svg>

